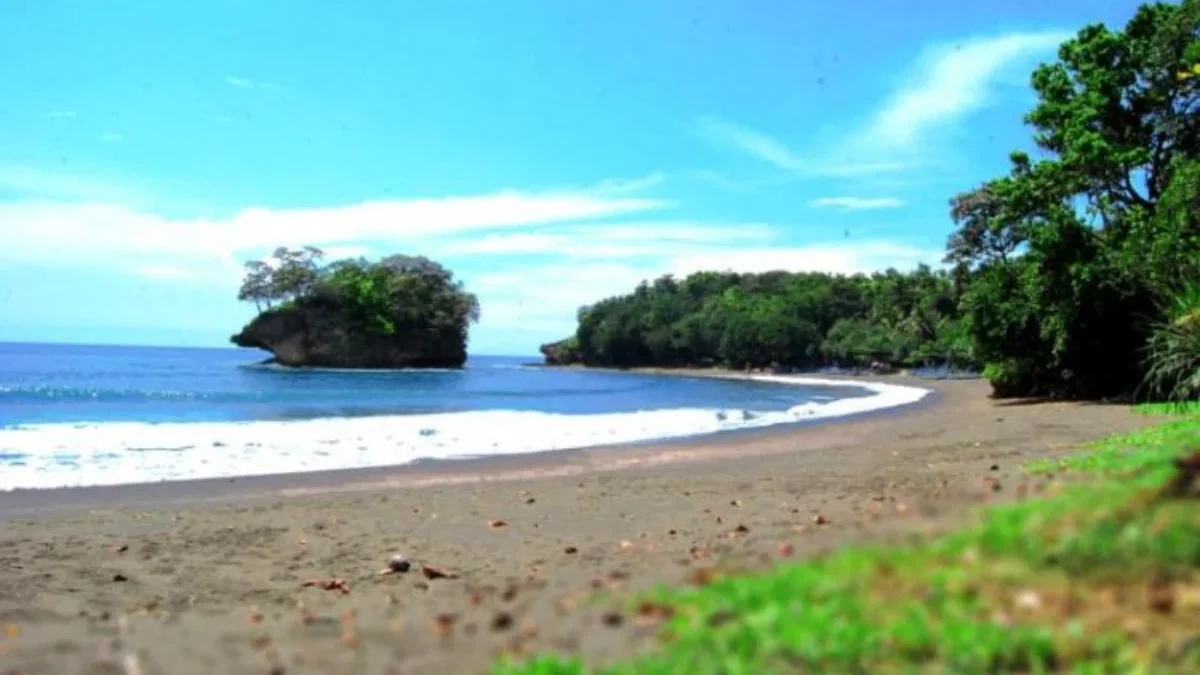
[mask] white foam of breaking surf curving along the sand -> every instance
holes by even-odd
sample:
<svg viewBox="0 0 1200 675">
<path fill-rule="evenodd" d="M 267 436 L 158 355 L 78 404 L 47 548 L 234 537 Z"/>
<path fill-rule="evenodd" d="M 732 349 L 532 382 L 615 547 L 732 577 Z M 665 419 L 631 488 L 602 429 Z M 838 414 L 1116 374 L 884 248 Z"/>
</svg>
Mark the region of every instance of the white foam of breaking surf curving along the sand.
<svg viewBox="0 0 1200 675">
<path fill-rule="evenodd" d="M 845 381 L 749 376 L 763 382 Z M 0 490 L 114 485 L 395 466 L 677 438 L 912 404 L 928 389 L 863 383 L 870 395 L 786 412 L 682 408 L 605 414 L 480 411 L 245 423 L 41 424 L 0 429 Z"/>
</svg>

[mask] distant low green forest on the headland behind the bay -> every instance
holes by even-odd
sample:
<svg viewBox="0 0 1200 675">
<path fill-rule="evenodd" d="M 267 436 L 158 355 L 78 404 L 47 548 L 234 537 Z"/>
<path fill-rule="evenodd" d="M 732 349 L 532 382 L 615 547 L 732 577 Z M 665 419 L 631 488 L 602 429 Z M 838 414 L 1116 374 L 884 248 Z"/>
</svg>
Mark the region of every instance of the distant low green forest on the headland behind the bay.
<svg viewBox="0 0 1200 675">
<path fill-rule="evenodd" d="M 547 358 L 622 368 L 971 363 L 956 287 L 926 267 L 851 277 L 664 276 L 578 319 L 572 338 L 542 348 Z"/>
</svg>

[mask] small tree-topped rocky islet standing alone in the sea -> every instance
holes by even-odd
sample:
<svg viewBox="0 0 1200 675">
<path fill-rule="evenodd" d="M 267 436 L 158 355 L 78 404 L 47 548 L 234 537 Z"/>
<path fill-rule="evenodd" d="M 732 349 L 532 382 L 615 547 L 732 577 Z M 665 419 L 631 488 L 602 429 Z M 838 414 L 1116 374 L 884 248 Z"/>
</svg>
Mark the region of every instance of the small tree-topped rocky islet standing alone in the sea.
<svg viewBox="0 0 1200 675">
<path fill-rule="evenodd" d="M 322 264 L 314 247 L 246 263 L 238 299 L 258 316 L 230 341 L 287 366 L 461 368 L 479 300 L 421 256 Z"/>
</svg>

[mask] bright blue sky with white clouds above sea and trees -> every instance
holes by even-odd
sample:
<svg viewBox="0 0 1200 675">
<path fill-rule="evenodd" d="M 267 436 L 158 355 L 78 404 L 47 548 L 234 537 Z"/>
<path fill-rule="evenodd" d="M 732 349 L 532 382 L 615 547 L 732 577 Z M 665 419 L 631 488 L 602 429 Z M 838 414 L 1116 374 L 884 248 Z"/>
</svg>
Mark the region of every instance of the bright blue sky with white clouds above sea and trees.
<svg viewBox="0 0 1200 675">
<path fill-rule="evenodd" d="M 701 269 L 937 264 L 1116 0 L 4 0 L 0 340 L 221 346 L 245 261 L 430 256 L 470 351 Z"/>
</svg>

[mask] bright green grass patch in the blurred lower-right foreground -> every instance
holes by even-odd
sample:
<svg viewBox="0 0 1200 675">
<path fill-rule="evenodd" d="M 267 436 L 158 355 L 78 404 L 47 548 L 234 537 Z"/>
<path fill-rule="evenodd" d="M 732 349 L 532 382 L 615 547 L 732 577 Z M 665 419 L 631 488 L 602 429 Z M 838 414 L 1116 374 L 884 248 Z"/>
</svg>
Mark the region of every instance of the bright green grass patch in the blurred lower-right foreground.
<svg viewBox="0 0 1200 675">
<path fill-rule="evenodd" d="M 1200 673 L 1200 500 L 1160 496 L 1198 448 L 1200 411 L 1180 411 L 1054 465 L 1086 479 L 936 540 L 640 598 L 666 619 L 635 662 L 493 674 Z"/>
</svg>

